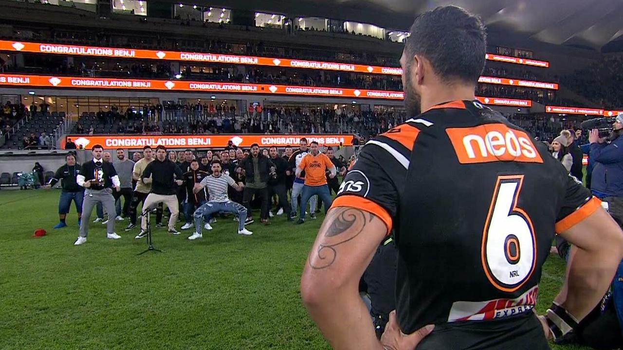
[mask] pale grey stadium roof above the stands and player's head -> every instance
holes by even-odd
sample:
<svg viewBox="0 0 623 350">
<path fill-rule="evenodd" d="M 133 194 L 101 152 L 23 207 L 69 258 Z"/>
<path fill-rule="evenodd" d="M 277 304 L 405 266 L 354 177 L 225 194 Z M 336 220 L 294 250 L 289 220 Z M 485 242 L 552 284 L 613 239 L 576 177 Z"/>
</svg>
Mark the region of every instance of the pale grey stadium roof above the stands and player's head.
<svg viewBox="0 0 623 350">
<path fill-rule="evenodd" d="M 188 1 L 188 0 L 187 0 Z M 197 1 L 202 2 L 202 1 Z M 518 32 L 541 42 L 601 49 L 623 39 L 621 0 L 217 0 L 214 6 L 317 16 L 407 30 L 416 14 L 454 4 L 479 14 L 490 30 Z M 221 2 L 221 4 L 219 4 Z"/>
</svg>

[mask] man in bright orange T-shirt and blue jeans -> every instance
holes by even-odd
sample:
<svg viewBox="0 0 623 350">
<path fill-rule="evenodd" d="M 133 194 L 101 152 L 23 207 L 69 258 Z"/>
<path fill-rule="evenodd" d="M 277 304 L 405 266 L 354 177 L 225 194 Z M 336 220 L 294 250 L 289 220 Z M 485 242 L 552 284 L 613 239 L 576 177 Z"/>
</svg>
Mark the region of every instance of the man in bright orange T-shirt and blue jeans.
<svg viewBox="0 0 623 350">
<path fill-rule="evenodd" d="M 326 210 L 331 207 L 331 192 L 329 192 L 329 186 L 326 184 L 325 173 L 326 169 L 329 169 L 331 172 L 329 178 L 333 179 L 336 175 L 336 169 L 331 159 L 326 154 L 318 151 L 318 143 L 316 141 L 312 141 L 310 150 L 311 152 L 303 157 L 297 167 L 297 177 L 305 171 L 305 186 L 303 186 L 301 203 L 307 203 L 312 196 L 318 195 L 325 202 L 326 214 Z M 300 207 L 300 219 L 298 219 L 297 224 L 305 222 L 305 207 L 307 206 Z"/>
</svg>

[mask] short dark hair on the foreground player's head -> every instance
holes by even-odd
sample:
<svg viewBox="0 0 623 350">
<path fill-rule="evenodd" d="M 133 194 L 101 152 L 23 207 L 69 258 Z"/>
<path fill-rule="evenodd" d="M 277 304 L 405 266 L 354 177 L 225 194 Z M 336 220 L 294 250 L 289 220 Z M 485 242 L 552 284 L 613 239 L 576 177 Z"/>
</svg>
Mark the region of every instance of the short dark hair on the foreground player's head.
<svg viewBox="0 0 623 350">
<path fill-rule="evenodd" d="M 415 55 L 426 57 L 445 82 L 475 84 L 485 67 L 487 33 L 480 17 L 461 7 L 440 6 L 417 16 L 404 45 L 407 70 Z"/>
</svg>

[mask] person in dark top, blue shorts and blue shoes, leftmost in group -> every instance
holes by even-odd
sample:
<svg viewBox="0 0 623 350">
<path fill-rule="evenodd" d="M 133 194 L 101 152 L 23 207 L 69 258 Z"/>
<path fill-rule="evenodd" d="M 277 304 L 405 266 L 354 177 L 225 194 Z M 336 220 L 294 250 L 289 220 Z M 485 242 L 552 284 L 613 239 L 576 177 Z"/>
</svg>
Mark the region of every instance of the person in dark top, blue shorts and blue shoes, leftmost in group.
<svg viewBox="0 0 623 350">
<path fill-rule="evenodd" d="M 55 229 L 60 229 L 67 226 L 65 218 L 69 212 L 72 201 L 76 206 L 76 212 L 78 213 L 78 226 L 80 226 L 80 218 L 82 217 L 82 201 L 84 199 L 84 188 L 78 186 L 76 177 L 80 174 L 82 167 L 80 164 L 76 164 L 76 158 L 74 153 L 67 153 L 65 156 L 65 165 L 61 166 L 46 188 L 50 189 L 60 181 L 60 185 L 63 188 L 60 192 L 59 199 L 59 223 L 54 225 Z"/>
</svg>

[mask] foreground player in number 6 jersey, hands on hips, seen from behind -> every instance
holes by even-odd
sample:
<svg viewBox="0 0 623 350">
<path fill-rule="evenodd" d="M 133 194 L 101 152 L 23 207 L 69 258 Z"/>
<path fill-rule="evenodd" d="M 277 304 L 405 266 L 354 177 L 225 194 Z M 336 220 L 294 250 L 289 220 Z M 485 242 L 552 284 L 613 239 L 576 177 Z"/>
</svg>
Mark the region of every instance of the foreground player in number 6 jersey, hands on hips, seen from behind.
<svg viewBox="0 0 623 350">
<path fill-rule="evenodd" d="M 401 65 L 412 119 L 363 146 L 303 271 L 303 301 L 333 348 L 548 349 L 611 283 L 621 229 L 540 143 L 475 100 L 485 37 L 454 6 L 411 27 Z M 358 282 L 392 229 L 396 312 L 379 343 Z M 554 234 L 574 258 L 538 317 Z"/>
</svg>

